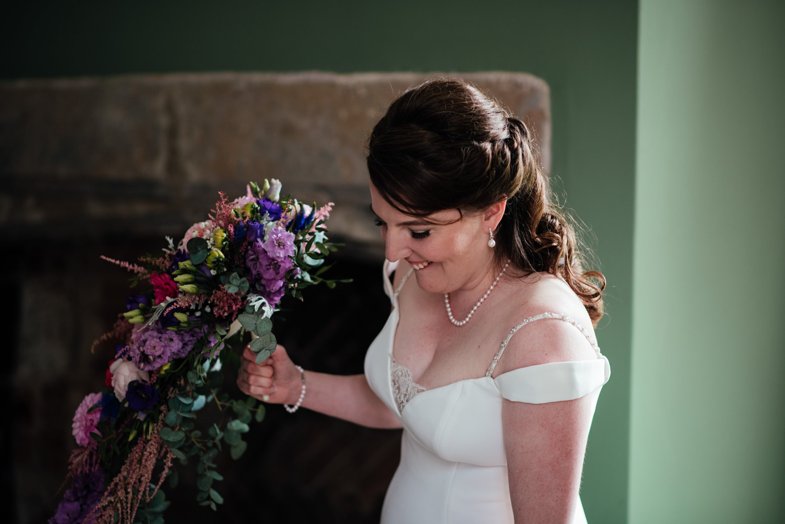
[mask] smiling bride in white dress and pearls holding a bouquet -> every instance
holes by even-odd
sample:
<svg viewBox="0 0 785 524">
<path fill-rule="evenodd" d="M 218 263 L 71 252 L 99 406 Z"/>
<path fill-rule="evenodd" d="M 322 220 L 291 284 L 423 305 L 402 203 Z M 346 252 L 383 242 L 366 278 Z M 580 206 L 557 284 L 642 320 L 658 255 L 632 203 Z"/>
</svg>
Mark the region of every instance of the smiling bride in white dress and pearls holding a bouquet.
<svg viewBox="0 0 785 524">
<path fill-rule="evenodd" d="M 403 427 L 385 524 L 586 522 L 583 456 L 610 377 L 592 329 L 604 277 L 582 270 L 527 127 L 434 79 L 392 102 L 367 166 L 392 311 L 365 373 L 302 371 L 282 346 L 257 366 L 246 348 L 239 388 Z"/>
</svg>

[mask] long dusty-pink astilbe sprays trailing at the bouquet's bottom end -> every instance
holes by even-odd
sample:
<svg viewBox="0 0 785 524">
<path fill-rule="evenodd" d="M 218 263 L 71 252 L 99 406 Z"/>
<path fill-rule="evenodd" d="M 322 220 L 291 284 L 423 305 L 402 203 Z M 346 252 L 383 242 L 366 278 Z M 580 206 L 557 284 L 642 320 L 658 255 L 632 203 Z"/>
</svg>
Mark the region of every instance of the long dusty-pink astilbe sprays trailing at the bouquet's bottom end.
<svg viewBox="0 0 785 524">
<path fill-rule="evenodd" d="M 173 458 L 172 450 L 163 443 L 159 435 L 167 411 L 166 408 L 161 410 L 161 416 L 158 423 L 153 426 L 150 438 L 139 438 L 126 463 L 122 464 L 119 474 L 112 479 L 104 491 L 104 497 L 101 497 L 93 511 L 85 517 L 84 522 L 115 524 L 116 512 L 119 515 L 116 524 L 132 524 L 142 500 L 150 502 L 152 497 L 155 497 L 155 493 L 158 493 L 166 473 L 171 468 Z M 158 484 L 150 493 L 152 471 L 159 459 L 163 462 L 163 471 Z M 137 493 L 133 493 L 134 491 Z"/>
</svg>

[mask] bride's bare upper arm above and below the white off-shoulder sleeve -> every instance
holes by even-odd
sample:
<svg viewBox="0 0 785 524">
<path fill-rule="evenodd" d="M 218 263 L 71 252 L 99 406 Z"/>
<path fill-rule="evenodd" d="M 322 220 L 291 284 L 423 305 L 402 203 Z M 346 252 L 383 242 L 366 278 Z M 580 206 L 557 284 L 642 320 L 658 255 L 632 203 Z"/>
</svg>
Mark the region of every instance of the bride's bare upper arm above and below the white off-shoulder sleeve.
<svg viewBox="0 0 785 524">
<path fill-rule="evenodd" d="M 543 319 L 510 339 L 498 373 L 593 358 L 595 351 L 575 326 Z M 597 393 L 543 404 L 503 401 L 509 492 L 518 524 L 572 522 Z"/>
</svg>

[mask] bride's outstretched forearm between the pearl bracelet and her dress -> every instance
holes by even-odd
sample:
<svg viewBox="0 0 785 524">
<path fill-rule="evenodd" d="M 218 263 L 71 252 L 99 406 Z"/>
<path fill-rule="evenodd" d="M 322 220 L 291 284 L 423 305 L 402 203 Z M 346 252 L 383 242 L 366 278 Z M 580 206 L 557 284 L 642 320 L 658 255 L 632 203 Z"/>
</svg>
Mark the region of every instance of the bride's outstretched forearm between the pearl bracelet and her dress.
<svg viewBox="0 0 785 524">
<path fill-rule="evenodd" d="M 302 407 L 369 428 L 400 428 L 395 414 L 368 385 L 365 375 L 305 372 Z"/>
</svg>

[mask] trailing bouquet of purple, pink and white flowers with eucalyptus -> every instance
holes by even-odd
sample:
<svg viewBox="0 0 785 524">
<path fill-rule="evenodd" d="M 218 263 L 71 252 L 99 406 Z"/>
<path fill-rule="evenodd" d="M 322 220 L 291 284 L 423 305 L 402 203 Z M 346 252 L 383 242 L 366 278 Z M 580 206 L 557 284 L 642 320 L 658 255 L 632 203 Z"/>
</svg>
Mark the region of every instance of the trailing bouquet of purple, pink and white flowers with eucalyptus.
<svg viewBox="0 0 785 524">
<path fill-rule="evenodd" d="M 252 333 L 250 348 L 264 362 L 276 349 L 271 317 L 283 295 L 302 299 L 303 288 L 336 282 L 321 276 L 338 246 L 324 226 L 333 203 L 316 209 L 280 191 L 272 179 L 250 183 L 232 202 L 219 193 L 210 220 L 177 245 L 166 237 L 160 257 L 102 257 L 134 273 L 131 287 L 149 289 L 128 297 L 113 329 L 93 343 L 114 340 L 115 358 L 104 390 L 76 409 L 72 485 L 49 522 L 163 522 L 161 487 L 166 478 L 177 486 L 175 458 L 195 462 L 199 504 L 216 510 L 223 502 L 214 459 L 227 448 L 238 459 L 248 424 L 265 417 L 255 398 L 221 391 L 222 367 L 239 365 L 233 343 Z"/>
</svg>

